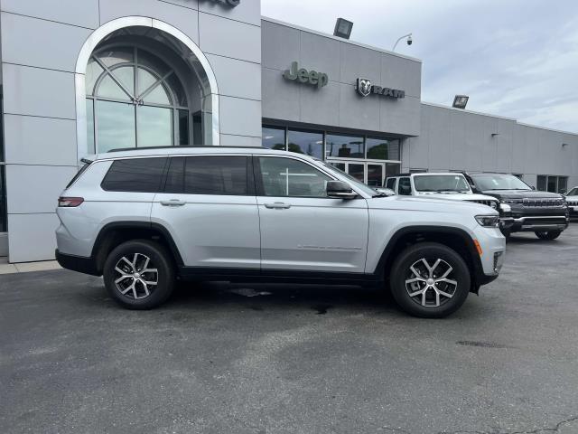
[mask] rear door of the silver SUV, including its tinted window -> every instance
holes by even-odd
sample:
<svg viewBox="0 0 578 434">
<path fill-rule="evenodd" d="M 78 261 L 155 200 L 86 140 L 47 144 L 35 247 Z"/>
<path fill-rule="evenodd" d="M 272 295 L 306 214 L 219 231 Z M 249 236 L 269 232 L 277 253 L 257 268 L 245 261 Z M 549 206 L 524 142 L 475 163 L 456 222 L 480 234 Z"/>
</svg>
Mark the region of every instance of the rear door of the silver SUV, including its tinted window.
<svg viewBox="0 0 578 434">
<path fill-rule="evenodd" d="M 260 267 L 250 156 L 171 157 L 151 220 L 171 232 L 185 266 Z"/>
</svg>

